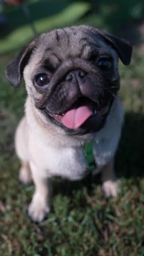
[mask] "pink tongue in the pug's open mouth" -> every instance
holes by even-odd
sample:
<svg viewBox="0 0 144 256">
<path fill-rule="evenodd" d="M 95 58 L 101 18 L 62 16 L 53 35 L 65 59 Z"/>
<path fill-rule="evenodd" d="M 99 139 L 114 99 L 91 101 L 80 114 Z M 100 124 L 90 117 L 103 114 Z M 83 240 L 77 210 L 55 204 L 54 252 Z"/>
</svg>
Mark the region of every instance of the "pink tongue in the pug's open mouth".
<svg viewBox="0 0 144 256">
<path fill-rule="evenodd" d="M 70 109 L 62 117 L 62 124 L 70 129 L 76 129 L 80 127 L 85 121 L 93 115 L 92 107 L 81 106 L 77 109 Z"/>
</svg>

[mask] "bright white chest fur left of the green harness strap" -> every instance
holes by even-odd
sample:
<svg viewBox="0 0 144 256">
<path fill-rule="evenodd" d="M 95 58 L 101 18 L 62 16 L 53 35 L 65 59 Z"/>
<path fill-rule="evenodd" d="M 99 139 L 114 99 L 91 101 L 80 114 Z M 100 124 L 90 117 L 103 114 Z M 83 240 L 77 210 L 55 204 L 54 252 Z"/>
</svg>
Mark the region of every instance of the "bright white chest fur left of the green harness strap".
<svg viewBox="0 0 144 256">
<path fill-rule="evenodd" d="M 81 179 L 88 164 L 85 152 L 79 148 L 57 148 L 44 146 L 37 138 L 29 139 L 29 156 L 31 161 L 43 171 L 45 177 L 62 176 L 71 180 Z"/>
</svg>

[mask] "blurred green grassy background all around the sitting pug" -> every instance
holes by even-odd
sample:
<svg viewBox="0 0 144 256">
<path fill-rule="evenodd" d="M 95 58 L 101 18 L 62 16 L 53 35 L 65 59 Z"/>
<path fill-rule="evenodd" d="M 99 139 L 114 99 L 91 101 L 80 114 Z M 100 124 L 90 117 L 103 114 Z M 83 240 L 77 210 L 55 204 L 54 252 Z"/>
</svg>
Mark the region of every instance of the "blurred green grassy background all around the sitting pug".
<svg viewBox="0 0 144 256">
<path fill-rule="evenodd" d="M 0 255 L 144 255 L 143 0 L 14 2 L 0 1 Z M 34 186 L 18 182 L 14 152 L 26 90 L 24 84 L 13 89 L 4 68 L 35 33 L 79 24 L 133 44 L 130 66 L 119 62 L 125 121 L 115 168 L 121 191 L 106 200 L 99 176 L 89 174 L 80 182 L 54 178 L 51 213 L 38 225 L 27 216 Z"/>
</svg>

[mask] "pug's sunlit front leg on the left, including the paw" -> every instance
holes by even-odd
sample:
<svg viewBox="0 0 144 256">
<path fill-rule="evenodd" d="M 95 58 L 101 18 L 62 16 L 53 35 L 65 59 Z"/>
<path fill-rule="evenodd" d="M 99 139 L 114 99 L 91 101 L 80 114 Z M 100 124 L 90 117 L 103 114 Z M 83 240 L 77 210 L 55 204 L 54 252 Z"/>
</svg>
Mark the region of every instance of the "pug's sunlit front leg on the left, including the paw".
<svg viewBox="0 0 144 256">
<path fill-rule="evenodd" d="M 28 207 L 28 214 L 34 222 L 41 222 L 50 211 L 51 181 L 49 178 L 42 176 L 41 171 L 33 162 L 30 162 L 30 167 L 35 192 Z"/>
</svg>

